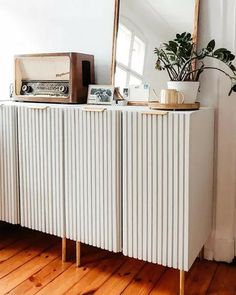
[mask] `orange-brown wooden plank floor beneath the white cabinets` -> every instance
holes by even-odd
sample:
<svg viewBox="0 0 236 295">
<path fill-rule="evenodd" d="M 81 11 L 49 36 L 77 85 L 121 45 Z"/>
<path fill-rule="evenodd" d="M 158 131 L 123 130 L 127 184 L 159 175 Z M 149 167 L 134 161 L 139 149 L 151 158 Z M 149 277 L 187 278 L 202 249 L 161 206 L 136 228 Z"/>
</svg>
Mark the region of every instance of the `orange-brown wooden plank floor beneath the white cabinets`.
<svg viewBox="0 0 236 295">
<path fill-rule="evenodd" d="M 0 294 L 178 294 L 179 272 L 74 243 L 61 262 L 61 240 L 18 226 L 0 226 Z M 185 294 L 236 295 L 236 266 L 196 261 Z"/>
</svg>

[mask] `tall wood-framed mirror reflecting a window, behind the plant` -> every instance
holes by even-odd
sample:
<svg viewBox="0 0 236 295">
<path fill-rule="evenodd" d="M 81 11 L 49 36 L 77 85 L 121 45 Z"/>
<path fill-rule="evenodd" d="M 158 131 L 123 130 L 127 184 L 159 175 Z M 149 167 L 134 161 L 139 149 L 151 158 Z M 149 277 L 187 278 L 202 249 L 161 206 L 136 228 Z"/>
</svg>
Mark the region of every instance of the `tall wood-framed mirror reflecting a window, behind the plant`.
<svg viewBox="0 0 236 295">
<path fill-rule="evenodd" d="M 120 87 L 121 94 L 129 87 L 130 102 L 156 100 L 160 90 L 167 87 L 167 73 L 155 69 L 154 49 L 177 33 L 192 32 L 196 42 L 199 2 L 116 0 L 112 82 Z M 132 91 L 131 96 L 134 88 L 141 91 Z"/>
</svg>

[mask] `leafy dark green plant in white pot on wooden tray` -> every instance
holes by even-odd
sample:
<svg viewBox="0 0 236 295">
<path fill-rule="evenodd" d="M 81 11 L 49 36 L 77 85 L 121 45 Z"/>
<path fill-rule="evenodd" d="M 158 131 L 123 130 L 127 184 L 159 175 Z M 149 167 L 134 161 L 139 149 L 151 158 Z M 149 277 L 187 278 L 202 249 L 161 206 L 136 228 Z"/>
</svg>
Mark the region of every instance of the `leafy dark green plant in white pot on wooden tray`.
<svg viewBox="0 0 236 295">
<path fill-rule="evenodd" d="M 177 34 L 174 40 L 155 48 L 157 55 L 156 69 L 166 70 L 170 81 L 169 89 L 177 89 L 185 97 L 185 103 L 193 103 L 197 99 L 199 78 L 205 70 L 217 70 L 224 73 L 231 81 L 229 95 L 236 92 L 236 67 L 233 65 L 235 55 L 226 48 L 215 49 L 215 40 L 211 40 L 206 48 L 196 50 L 190 33 Z M 207 59 L 217 59 L 229 69 L 205 64 Z"/>
</svg>

